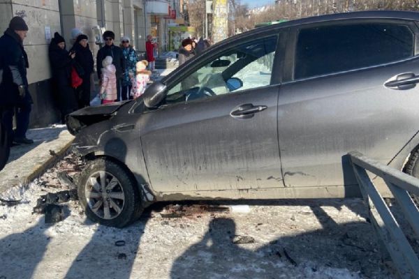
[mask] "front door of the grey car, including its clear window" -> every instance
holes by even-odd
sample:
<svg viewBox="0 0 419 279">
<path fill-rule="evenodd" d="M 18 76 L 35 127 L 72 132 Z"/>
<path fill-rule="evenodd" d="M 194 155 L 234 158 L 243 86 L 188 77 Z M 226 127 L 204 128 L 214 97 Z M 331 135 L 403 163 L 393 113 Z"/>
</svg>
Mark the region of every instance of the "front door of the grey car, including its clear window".
<svg viewBox="0 0 419 279">
<path fill-rule="evenodd" d="M 156 193 L 240 197 L 231 192 L 283 186 L 272 82 L 278 38 L 247 38 L 189 63 L 165 103 L 140 117 Z"/>
</svg>

